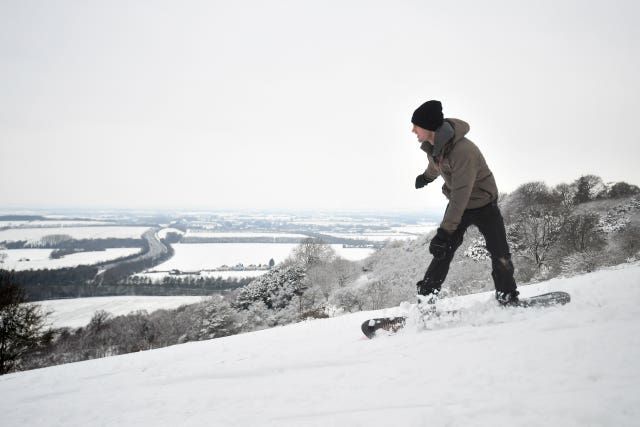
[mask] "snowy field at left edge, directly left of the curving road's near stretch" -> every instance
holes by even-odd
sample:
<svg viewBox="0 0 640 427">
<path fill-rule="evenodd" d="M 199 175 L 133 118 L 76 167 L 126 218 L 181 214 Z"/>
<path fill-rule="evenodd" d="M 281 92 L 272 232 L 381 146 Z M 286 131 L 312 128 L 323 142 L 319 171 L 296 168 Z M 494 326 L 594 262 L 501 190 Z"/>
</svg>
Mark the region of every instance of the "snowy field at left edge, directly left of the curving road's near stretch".
<svg viewBox="0 0 640 427">
<path fill-rule="evenodd" d="M 140 248 L 108 248 L 104 251 L 78 252 L 58 259 L 49 259 L 53 249 L 4 249 L 7 258 L 0 268 L 7 270 L 38 270 L 92 265 L 140 252 Z"/>
</svg>

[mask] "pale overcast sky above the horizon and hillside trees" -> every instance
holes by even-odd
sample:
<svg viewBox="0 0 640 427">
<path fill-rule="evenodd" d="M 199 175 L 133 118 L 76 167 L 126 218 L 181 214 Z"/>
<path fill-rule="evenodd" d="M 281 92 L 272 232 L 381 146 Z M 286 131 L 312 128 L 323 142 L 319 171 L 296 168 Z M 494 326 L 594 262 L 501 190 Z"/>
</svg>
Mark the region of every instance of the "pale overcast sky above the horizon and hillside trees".
<svg viewBox="0 0 640 427">
<path fill-rule="evenodd" d="M 441 206 L 428 99 L 503 192 L 640 185 L 638 4 L 0 0 L 0 207 Z"/>
</svg>

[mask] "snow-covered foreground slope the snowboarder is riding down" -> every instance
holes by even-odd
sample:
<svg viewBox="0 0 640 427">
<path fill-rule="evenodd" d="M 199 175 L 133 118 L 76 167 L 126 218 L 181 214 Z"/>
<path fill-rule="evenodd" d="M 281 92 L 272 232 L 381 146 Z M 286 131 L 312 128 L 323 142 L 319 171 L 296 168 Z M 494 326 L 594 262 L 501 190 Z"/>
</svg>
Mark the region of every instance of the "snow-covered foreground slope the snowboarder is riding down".
<svg viewBox="0 0 640 427">
<path fill-rule="evenodd" d="M 556 279 L 571 304 L 367 340 L 357 313 L 0 377 L 3 426 L 640 424 L 640 265 Z"/>
</svg>

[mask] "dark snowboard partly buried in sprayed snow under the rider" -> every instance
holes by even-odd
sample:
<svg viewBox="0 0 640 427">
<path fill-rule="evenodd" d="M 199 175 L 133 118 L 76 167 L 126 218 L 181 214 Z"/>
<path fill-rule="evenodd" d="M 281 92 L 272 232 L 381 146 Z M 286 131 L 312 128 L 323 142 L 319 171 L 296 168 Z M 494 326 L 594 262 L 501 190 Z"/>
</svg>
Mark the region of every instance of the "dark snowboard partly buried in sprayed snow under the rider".
<svg viewBox="0 0 640 427">
<path fill-rule="evenodd" d="M 528 298 L 520 298 L 518 304 L 506 306 L 504 308 L 510 307 L 549 307 L 553 305 L 564 305 L 571 301 L 571 296 L 566 292 L 549 292 L 546 294 L 536 295 Z M 462 309 L 464 310 L 464 309 Z M 449 316 L 455 317 L 455 315 L 459 314 L 460 310 L 449 310 L 449 311 L 434 311 L 431 313 L 425 314 L 428 318 L 441 317 L 441 316 Z M 375 338 L 376 332 L 380 329 L 385 330 L 390 333 L 398 332 L 402 329 L 407 322 L 407 317 L 404 316 L 396 316 L 396 317 L 379 317 L 376 319 L 365 320 L 360 329 L 365 334 L 365 336 L 369 339 Z"/>
</svg>

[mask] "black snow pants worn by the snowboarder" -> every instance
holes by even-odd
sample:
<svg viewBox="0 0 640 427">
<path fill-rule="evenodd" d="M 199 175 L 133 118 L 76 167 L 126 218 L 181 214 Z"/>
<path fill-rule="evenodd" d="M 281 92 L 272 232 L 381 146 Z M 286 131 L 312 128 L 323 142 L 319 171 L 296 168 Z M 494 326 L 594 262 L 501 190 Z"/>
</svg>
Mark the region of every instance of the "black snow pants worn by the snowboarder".
<svg viewBox="0 0 640 427">
<path fill-rule="evenodd" d="M 513 263 L 509 253 L 507 234 L 504 228 L 504 220 L 498 208 L 498 202 L 494 201 L 477 209 L 467 209 L 462 215 L 460 225 L 453 233 L 449 250 L 442 259 L 433 258 L 424 279 L 418 282 L 418 293 L 429 295 L 439 292 L 449 272 L 449 265 L 456 250 L 462 244 L 462 238 L 469 226 L 475 225 L 484 236 L 487 250 L 491 254 L 491 266 L 493 271 L 493 283 L 496 291 L 511 292 L 516 289 L 516 281 L 513 278 Z"/>
</svg>

